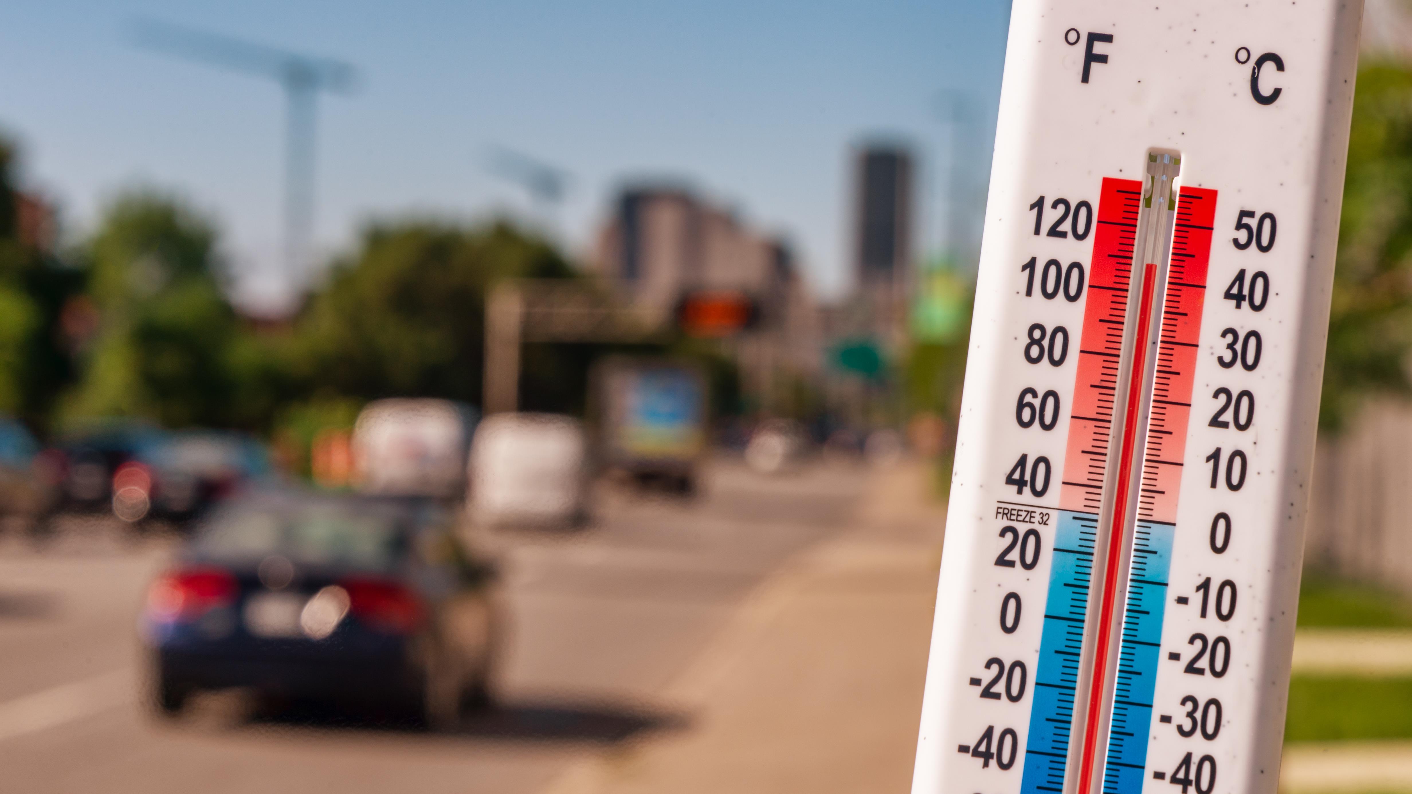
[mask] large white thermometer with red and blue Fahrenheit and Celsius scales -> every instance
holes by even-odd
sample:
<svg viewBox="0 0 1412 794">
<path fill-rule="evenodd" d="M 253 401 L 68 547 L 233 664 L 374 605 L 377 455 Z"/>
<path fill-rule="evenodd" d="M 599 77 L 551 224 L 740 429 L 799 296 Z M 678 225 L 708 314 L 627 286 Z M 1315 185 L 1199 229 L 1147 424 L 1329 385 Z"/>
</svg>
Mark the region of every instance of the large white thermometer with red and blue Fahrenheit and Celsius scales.
<svg viewBox="0 0 1412 794">
<path fill-rule="evenodd" d="M 1274 793 L 1361 0 L 1017 0 L 914 793 Z"/>
</svg>

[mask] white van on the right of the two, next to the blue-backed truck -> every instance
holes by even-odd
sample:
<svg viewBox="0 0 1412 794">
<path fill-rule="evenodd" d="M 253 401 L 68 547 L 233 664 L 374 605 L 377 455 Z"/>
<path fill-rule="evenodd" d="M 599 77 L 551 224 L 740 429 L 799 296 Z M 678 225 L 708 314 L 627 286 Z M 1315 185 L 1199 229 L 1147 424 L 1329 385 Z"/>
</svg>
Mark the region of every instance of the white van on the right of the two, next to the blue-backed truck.
<svg viewBox="0 0 1412 794">
<path fill-rule="evenodd" d="M 470 511 L 480 526 L 579 526 L 587 520 L 583 425 L 558 414 L 496 414 L 470 448 Z"/>
</svg>

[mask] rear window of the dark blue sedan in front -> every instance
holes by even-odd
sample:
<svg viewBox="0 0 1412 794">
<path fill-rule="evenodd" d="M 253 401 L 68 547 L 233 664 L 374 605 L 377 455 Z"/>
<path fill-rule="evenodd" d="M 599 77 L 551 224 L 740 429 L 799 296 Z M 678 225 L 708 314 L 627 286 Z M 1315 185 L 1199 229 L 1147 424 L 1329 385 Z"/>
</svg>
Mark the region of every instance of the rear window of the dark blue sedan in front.
<svg viewBox="0 0 1412 794">
<path fill-rule="evenodd" d="M 385 511 L 311 504 L 232 510 L 198 537 L 195 548 L 213 561 L 280 554 L 306 565 L 385 569 L 397 564 L 402 544 Z"/>
</svg>

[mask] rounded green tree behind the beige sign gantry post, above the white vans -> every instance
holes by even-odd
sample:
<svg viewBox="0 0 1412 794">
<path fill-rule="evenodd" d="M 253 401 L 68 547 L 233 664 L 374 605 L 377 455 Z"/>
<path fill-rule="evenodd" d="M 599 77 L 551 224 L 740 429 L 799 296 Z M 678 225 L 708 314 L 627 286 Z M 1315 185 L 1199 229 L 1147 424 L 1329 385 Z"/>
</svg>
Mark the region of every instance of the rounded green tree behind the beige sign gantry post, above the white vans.
<svg viewBox="0 0 1412 794">
<path fill-rule="evenodd" d="M 311 393 L 363 400 L 425 396 L 480 404 L 489 288 L 503 278 L 572 275 L 549 244 L 505 223 L 472 230 L 431 222 L 373 226 L 354 256 L 335 263 L 328 285 L 299 318 L 299 383 Z M 582 404 L 587 353 L 527 346 L 527 407 Z M 535 396 L 548 400 L 532 404 Z"/>
</svg>

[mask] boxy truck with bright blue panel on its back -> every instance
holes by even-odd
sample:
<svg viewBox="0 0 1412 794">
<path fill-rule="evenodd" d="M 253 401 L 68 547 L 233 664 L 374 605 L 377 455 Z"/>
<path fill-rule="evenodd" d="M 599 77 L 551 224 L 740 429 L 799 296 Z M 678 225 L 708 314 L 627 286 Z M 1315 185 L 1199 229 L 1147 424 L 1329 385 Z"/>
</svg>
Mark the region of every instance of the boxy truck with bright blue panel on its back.
<svg viewBox="0 0 1412 794">
<path fill-rule="evenodd" d="M 706 377 L 678 359 L 614 356 L 594 370 L 596 445 L 607 470 L 692 494 L 706 454 Z"/>
</svg>

